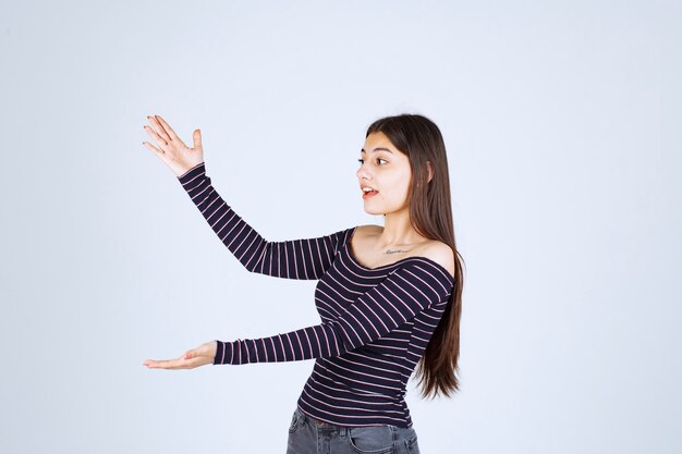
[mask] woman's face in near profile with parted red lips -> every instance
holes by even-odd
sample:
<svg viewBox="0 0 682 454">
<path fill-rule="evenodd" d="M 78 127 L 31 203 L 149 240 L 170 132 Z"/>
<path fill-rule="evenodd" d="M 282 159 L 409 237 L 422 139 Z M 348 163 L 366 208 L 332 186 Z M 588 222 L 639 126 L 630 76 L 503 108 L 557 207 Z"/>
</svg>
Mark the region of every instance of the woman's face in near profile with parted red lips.
<svg viewBox="0 0 682 454">
<path fill-rule="evenodd" d="M 407 208 L 412 169 L 407 155 L 399 151 L 388 137 L 372 133 L 365 139 L 357 169 L 361 196 L 369 214 L 388 214 Z M 374 189 L 365 193 L 364 188 Z"/>
</svg>

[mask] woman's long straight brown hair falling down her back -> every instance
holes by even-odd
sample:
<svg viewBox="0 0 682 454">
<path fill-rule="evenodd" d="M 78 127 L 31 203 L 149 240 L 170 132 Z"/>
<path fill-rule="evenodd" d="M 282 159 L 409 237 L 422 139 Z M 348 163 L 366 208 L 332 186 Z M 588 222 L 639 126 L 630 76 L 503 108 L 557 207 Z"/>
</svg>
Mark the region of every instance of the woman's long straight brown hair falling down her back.
<svg viewBox="0 0 682 454">
<path fill-rule="evenodd" d="M 419 359 L 416 378 L 422 396 L 439 392 L 450 396 L 460 390 L 458 359 L 460 357 L 460 319 L 462 316 L 462 266 L 456 250 L 450 179 L 446 145 L 440 130 L 431 120 L 418 114 L 386 116 L 372 123 L 365 137 L 381 132 L 410 159 L 412 187 L 409 192 L 410 222 L 422 236 L 449 245 L 454 254 L 454 289 L 446 310 Z M 427 161 L 434 172 L 428 181 Z"/>
</svg>

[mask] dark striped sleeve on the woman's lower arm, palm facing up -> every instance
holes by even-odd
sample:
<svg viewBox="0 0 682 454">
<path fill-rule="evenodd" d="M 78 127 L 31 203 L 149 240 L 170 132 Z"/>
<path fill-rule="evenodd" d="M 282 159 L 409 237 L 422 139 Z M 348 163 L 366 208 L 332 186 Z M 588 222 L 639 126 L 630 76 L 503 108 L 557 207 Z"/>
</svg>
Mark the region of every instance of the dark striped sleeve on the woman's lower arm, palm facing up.
<svg viewBox="0 0 682 454">
<path fill-rule="evenodd" d="M 451 282 L 434 265 L 411 262 L 340 309 L 343 312 L 337 319 L 270 338 L 217 341 L 214 365 L 339 356 L 376 341 L 448 298 L 453 287 Z"/>
</svg>

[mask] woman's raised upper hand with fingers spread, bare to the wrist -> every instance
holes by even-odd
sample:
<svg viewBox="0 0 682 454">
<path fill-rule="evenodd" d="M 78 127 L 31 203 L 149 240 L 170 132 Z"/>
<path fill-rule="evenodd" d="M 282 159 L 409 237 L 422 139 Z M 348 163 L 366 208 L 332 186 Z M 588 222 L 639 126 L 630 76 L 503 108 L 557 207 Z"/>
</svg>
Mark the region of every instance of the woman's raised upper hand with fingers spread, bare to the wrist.
<svg viewBox="0 0 682 454">
<path fill-rule="evenodd" d="M 178 137 L 173 128 L 170 127 L 161 116 L 147 115 L 147 120 L 149 120 L 151 125 L 145 124 L 144 128 L 151 138 L 157 142 L 159 148 L 148 142 L 143 142 L 142 145 L 161 158 L 175 176 L 180 176 L 196 164 L 204 162 L 202 132 L 199 130 L 194 130 L 192 136 L 194 139 L 194 148 L 190 148 Z"/>
</svg>

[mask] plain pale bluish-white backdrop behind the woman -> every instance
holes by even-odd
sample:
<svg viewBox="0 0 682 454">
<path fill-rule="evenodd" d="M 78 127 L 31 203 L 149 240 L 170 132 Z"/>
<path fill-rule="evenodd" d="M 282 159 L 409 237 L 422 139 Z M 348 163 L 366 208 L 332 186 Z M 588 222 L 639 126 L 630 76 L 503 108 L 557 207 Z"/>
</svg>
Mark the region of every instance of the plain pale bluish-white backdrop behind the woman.
<svg viewBox="0 0 682 454">
<path fill-rule="evenodd" d="M 186 143 L 267 240 L 361 223 L 375 119 L 441 128 L 461 392 L 425 454 L 682 451 L 679 1 L 3 4 L 0 452 L 283 453 L 312 361 L 149 370 L 317 324 L 143 145 Z"/>
</svg>

